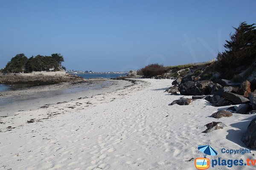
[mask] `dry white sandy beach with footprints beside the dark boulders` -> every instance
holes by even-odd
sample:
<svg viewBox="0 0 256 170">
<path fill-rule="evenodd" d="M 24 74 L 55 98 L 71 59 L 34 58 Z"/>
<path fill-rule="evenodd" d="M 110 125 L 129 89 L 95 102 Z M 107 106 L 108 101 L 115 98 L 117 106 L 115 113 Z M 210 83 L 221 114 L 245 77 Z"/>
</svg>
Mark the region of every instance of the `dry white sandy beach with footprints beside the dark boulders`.
<svg viewBox="0 0 256 170">
<path fill-rule="evenodd" d="M 207 144 L 219 152 L 209 159 L 256 159 L 256 151 L 221 153 L 244 148 L 241 136 L 255 116 L 211 118 L 227 107 L 212 107 L 204 99 L 169 106 L 181 97 L 164 93 L 171 85 L 170 79 L 139 79 L 125 88 L 88 98 L 76 94 L 67 102 L 2 117 L 0 170 L 195 170 L 192 158 L 203 156 L 197 147 Z M 227 127 L 201 133 L 213 121 Z"/>
</svg>

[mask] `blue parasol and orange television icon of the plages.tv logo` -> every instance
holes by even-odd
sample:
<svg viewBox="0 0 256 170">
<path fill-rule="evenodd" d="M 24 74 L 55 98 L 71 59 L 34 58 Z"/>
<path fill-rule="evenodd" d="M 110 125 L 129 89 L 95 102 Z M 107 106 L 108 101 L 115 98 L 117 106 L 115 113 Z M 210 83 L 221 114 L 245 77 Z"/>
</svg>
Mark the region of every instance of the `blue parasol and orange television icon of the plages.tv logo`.
<svg viewBox="0 0 256 170">
<path fill-rule="evenodd" d="M 199 145 L 198 150 L 204 153 L 204 157 L 195 159 L 195 167 L 198 170 L 206 170 L 210 167 L 210 160 L 206 156 L 216 156 L 218 152 L 209 145 Z"/>
</svg>

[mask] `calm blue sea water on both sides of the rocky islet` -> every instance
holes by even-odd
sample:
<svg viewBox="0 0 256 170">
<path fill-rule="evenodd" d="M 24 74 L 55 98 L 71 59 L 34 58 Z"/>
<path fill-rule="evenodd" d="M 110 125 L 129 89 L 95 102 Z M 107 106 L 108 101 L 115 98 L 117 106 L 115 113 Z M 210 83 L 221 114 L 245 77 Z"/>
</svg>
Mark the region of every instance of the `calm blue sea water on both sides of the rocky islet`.
<svg viewBox="0 0 256 170">
<path fill-rule="evenodd" d="M 111 79 L 111 78 L 116 78 L 120 76 L 126 76 L 127 74 L 93 74 L 93 73 L 84 73 L 84 74 L 75 74 L 80 77 L 83 77 L 84 79 L 93 79 L 93 78 L 106 78 L 106 79 Z M 0 91 L 6 91 L 6 90 L 15 90 L 17 88 L 27 88 L 27 87 L 32 87 L 35 85 L 31 84 L 15 84 L 15 85 L 7 85 L 7 84 L 0 84 Z"/>
</svg>

